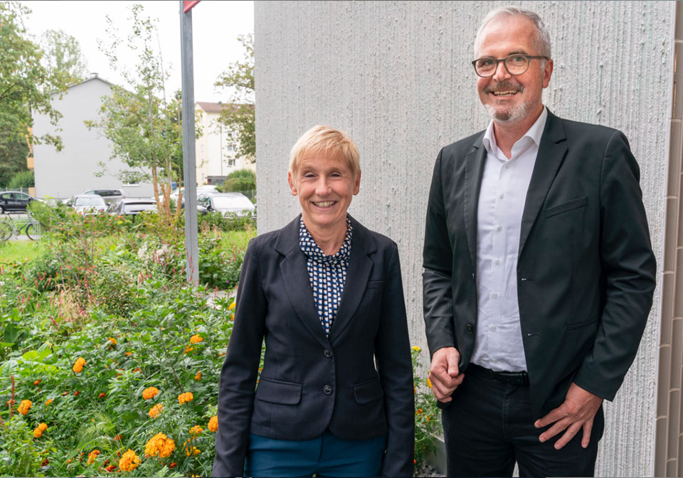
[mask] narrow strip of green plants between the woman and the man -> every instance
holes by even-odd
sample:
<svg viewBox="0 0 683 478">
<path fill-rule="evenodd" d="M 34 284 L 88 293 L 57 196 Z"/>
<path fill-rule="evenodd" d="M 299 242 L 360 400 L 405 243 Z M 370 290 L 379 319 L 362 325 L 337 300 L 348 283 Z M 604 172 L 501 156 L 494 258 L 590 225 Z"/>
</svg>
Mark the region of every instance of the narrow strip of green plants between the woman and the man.
<svg viewBox="0 0 683 478">
<path fill-rule="evenodd" d="M 415 464 L 419 467 L 426 457 L 436 452 L 437 436 L 441 434 L 441 413 L 436 406 L 429 378 L 422 378 L 420 347 L 413 346 L 413 384 L 415 387 Z"/>
</svg>

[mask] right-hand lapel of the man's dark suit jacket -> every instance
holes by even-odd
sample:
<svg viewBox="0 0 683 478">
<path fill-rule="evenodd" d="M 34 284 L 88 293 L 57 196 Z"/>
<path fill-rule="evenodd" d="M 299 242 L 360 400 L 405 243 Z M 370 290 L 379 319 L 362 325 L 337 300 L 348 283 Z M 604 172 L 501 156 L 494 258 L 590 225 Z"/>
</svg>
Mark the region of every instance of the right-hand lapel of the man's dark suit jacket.
<svg viewBox="0 0 683 478">
<path fill-rule="evenodd" d="M 531 227 L 539 216 L 541 206 L 546 199 L 550 186 L 553 184 L 557 170 L 560 164 L 562 164 L 566 152 L 566 135 L 564 134 L 562 121 L 548 110 L 548 119 L 541 136 L 539 154 L 536 155 L 534 172 L 531 173 L 529 189 L 526 191 L 526 203 L 524 204 L 524 213 L 521 216 L 521 230 L 519 233 L 519 255 L 521 255 L 521 251 L 524 249 L 524 244 L 529 237 Z"/>
</svg>

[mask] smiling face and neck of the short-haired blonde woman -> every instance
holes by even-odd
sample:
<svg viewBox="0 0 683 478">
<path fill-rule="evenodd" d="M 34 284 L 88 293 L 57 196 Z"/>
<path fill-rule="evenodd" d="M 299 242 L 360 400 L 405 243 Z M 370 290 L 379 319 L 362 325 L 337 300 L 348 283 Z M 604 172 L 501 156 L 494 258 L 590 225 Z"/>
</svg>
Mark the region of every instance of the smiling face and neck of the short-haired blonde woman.
<svg viewBox="0 0 683 478">
<path fill-rule="evenodd" d="M 360 171 L 354 177 L 349 164 L 342 158 L 324 152 L 304 155 L 295 174 L 287 181 L 292 196 L 299 196 L 307 228 L 346 230 L 346 209 L 361 186 Z"/>
</svg>

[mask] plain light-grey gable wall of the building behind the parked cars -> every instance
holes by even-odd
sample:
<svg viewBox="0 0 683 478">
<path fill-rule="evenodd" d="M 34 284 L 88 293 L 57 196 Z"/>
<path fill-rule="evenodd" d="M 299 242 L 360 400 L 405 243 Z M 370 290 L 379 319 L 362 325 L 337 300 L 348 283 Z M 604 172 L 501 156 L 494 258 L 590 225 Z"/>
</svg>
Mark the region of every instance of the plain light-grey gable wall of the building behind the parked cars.
<svg viewBox="0 0 683 478">
<path fill-rule="evenodd" d="M 121 188 L 129 198 L 150 197 L 154 194 L 151 183 L 124 186 L 117 177 L 119 171 L 132 170 L 120 159 L 111 159 L 110 142 L 97 129 L 88 129 L 83 122 L 97 119 L 100 98 L 110 95 L 109 83 L 94 78 L 70 87 L 53 106 L 63 115 L 58 127 L 50 124 L 45 115 L 34 115 L 33 132 L 41 136 L 46 132 L 58 134 L 64 147 L 57 152 L 53 147 L 37 144 L 33 148 L 38 197 L 69 198 L 92 188 Z M 100 161 L 106 164 L 105 174 Z"/>
</svg>

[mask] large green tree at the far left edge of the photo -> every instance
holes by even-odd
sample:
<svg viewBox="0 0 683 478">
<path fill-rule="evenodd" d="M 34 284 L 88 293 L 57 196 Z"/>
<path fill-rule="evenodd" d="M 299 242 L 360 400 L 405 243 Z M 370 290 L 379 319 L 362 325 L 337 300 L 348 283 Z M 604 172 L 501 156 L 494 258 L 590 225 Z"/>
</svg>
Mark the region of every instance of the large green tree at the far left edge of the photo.
<svg viewBox="0 0 683 478">
<path fill-rule="evenodd" d="M 0 142 L 5 143 L 0 152 L 14 149 L 8 143 L 18 141 L 62 148 L 60 137 L 36 137 L 31 130 L 31 112 L 47 115 L 57 124 L 61 115 L 52 107 L 52 94 L 65 91 L 68 85 L 41 64 L 43 52 L 27 38 L 23 26 L 23 16 L 29 13 L 30 9 L 16 2 L 0 2 Z M 0 156 L 0 162 L 6 159 Z"/>
</svg>

